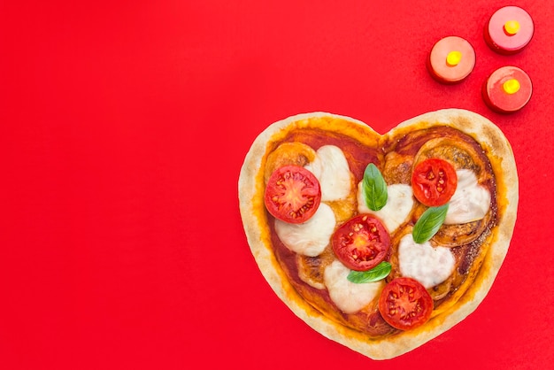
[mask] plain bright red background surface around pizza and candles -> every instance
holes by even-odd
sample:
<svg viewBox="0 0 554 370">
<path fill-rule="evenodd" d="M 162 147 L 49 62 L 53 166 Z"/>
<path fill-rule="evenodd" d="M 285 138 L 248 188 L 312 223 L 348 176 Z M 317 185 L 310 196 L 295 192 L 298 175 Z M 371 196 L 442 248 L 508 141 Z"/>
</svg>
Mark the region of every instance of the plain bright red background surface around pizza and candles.
<svg viewBox="0 0 554 370">
<path fill-rule="evenodd" d="M 514 3 L 509 3 L 514 4 Z M 0 3 L 0 366 L 544 368 L 554 360 L 554 5 L 527 49 L 489 50 L 498 0 Z M 432 80 L 433 44 L 459 35 L 466 81 Z M 491 112 L 500 66 L 534 82 Z M 281 303 L 250 254 L 237 181 L 275 120 L 327 111 L 385 133 L 459 107 L 504 130 L 519 168 L 510 251 L 476 312 L 378 362 Z"/>
</svg>

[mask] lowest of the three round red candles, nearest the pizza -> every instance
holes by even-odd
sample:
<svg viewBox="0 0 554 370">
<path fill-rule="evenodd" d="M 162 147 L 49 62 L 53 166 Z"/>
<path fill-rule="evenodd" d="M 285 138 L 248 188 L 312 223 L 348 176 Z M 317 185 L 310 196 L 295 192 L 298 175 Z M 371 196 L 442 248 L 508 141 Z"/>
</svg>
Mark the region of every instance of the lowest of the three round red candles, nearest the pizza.
<svg viewBox="0 0 554 370">
<path fill-rule="evenodd" d="M 527 73 L 516 66 L 503 66 L 490 74 L 483 85 L 482 96 L 493 111 L 512 113 L 527 104 L 532 92 L 533 85 Z"/>
</svg>

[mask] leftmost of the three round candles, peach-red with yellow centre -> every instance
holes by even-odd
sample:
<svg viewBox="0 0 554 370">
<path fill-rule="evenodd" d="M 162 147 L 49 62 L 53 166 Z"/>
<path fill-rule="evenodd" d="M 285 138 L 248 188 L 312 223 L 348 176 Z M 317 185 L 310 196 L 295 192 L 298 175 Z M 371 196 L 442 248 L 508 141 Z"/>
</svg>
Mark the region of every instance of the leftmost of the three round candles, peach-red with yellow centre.
<svg viewBox="0 0 554 370">
<path fill-rule="evenodd" d="M 448 36 L 433 46 L 427 59 L 427 70 L 436 81 L 457 83 L 464 80 L 475 66 L 475 50 L 471 43 L 458 36 Z"/>
</svg>

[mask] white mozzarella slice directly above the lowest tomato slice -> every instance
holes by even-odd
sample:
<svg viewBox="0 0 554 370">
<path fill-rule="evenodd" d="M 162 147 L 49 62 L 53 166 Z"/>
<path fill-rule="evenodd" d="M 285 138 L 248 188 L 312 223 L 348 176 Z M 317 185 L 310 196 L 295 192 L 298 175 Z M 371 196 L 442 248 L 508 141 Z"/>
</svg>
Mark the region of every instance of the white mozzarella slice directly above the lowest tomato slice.
<svg viewBox="0 0 554 370">
<path fill-rule="evenodd" d="M 410 233 L 404 235 L 398 245 L 398 265 L 400 274 L 419 281 L 428 289 L 448 279 L 456 260 L 450 248 L 433 247 L 429 242 L 415 243 Z"/>
</svg>

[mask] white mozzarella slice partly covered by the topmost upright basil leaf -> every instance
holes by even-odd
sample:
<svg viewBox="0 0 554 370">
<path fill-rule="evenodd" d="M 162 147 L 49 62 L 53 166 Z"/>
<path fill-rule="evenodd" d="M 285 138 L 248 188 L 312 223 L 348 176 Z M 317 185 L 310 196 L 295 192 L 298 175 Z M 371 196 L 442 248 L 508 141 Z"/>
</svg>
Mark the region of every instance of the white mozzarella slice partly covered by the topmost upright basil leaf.
<svg viewBox="0 0 554 370">
<path fill-rule="evenodd" d="M 405 184 L 392 184 L 387 187 L 389 198 L 387 204 L 379 211 L 367 208 L 364 196 L 364 181 L 358 183 L 358 212 L 372 213 L 387 227 L 389 233 L 404 223 L 413 207 L 412 187 Z"/>
</svg>

